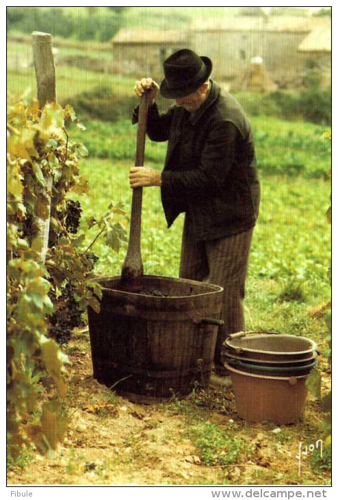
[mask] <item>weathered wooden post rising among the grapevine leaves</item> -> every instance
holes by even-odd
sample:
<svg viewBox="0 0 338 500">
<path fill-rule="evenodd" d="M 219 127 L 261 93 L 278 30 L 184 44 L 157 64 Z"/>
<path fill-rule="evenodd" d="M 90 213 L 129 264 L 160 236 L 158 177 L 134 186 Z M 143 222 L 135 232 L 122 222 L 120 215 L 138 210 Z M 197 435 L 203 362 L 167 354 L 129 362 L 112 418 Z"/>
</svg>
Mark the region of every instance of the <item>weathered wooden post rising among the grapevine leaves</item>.
<svg viewBox="0 0 338 500">
<path fill-rule="evenodd" d="M 52 51 L 52 37 L 48 33 L 33 32 L 33 56 L 34 66 L 36 71 L 36 86 L 38 90 L 38 101 L 40 110 L 44 108 L 47 102 L 56 101 L 56 86 L 55 86 L 55 64 Z M 47 175 L 44 178 L 46 188 L 44 190 L 44 199 L 46 199 L 47 212 L 49 216 L 42 219 L 36 216 L 34 220 L 37 228 L 37 233 L 31 242 L 31 248 L 38 253 L 38 259 L 42 264 L 46 260 L 48 240 L 49 240 L 49 225 L 51 214 L 51 190 L 53 187 L 53 177 Z"/>
</svg>

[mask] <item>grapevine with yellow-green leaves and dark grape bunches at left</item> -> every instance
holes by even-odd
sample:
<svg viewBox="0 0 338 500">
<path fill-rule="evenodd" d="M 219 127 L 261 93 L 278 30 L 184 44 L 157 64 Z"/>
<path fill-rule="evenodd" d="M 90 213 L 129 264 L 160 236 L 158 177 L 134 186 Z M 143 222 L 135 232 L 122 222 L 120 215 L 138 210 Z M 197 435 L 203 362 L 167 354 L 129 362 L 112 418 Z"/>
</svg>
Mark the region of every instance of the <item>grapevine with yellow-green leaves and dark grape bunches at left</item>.
<svg viewBox="0 0 338 500">
<path fill-rule="evenodd" d="M 79 175 L 87 150 L 71 140 L 76 129 L 84 127 L 70 105 L 47 103 L 42 112 L 37 101 L 28 107 L 8 105 L 7 422 L 12 457 L 29 443 L 53 455 L 64 438 L 68 358 L 60 344 L 81 324 L 88 305 L 99 310 L 101 288 L 90 281 L 95 241 L 102 236 L 118 251 L 126 239 L 125 228 L 115 221 L 116 214 L 125 212 L 120 203 L 111 203 L 101 218 L 88 221 L 88 228 L 98 227 L 99 234 L 84 243 L 81 206 L 73 198 L 88 192 L 88 182 Z M 45 260 L 38 240 L 41 221 L 50 221 Z M 38 397 L 43 377 L 53 382 L 44 389 L 44 402 Z"/>
</svg>

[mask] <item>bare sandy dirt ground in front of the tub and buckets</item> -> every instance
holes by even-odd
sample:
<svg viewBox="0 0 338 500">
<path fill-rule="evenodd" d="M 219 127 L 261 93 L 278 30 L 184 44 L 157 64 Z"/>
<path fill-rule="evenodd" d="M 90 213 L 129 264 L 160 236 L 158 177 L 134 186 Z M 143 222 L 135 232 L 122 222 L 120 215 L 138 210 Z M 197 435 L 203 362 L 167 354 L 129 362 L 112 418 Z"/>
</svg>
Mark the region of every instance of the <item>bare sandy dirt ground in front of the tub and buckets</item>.
<svg viewBox="0 0 338 500">
<path fill-rule="evenodd" d="M 93 379 L 87 332 L 79 332 L 65 351 L 71 361 L 66 438 L 53 459 L 27 450 L 25 463 L 8 471 L 9 485 L 330 484 L 329 471 L 311 467 L 311 453 L 298 473 L 299 442 L 309 446 L 322 436 L 317 401 L 308 398 L 299 423 L 280 426 L 240 419 L 231 388 L 211 388 L 183 403 L 140 405 Z M 329 375 L 322 379 L 325 393 Z M 187 433 L 192 416 L 196 422 L 199 415 L 229 429 L 229 436 L 244 442 L 245 453 L 226 466 L 206 465 Z"/>
</svg>

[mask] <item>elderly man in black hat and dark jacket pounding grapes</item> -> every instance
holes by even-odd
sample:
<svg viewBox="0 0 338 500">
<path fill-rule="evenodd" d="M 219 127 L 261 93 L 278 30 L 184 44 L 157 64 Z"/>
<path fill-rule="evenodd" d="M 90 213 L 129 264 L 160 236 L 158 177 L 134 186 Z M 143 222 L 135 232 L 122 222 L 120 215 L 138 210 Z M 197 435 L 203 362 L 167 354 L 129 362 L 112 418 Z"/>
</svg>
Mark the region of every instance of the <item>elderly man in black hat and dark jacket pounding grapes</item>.
<svg viewBox="0 0 338 500">
<path fill-rule="evenodd" d="M 161 87 L 151 78 L 136 82 L 149 92 L 147 134 L 168 141 L 164 170 L 131 168 L 131 188 L 160 186 L 168 227 L 185 212 L 179 276 L 224 288 L 222 319 L 214 357 L 226 375 L 222 342 L 244 330 L 244 288 L 259 180 L 250 123 L 241 105 L 209 79 L 211 60 L 189 49 L 164 61 Z M 159 113 L 158 91 L 175 105 Z M 138 120 L 138 108 L 133 123 Z"/>
</svg>

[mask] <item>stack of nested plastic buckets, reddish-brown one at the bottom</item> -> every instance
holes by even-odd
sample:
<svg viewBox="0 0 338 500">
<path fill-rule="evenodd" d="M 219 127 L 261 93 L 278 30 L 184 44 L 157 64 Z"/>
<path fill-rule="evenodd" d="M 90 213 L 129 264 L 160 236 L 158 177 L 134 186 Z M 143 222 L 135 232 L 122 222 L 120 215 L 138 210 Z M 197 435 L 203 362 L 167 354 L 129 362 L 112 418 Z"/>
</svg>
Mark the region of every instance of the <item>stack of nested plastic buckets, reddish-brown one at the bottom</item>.
<svg viewBox="0 0 338 500">
<path fill-rule="evenodd" d="M 224 347 L 239 416 L 251 422 L 296 422 L 317 361 L 316 343 L 275 332 L 239 332 Z"/>
</svg>

